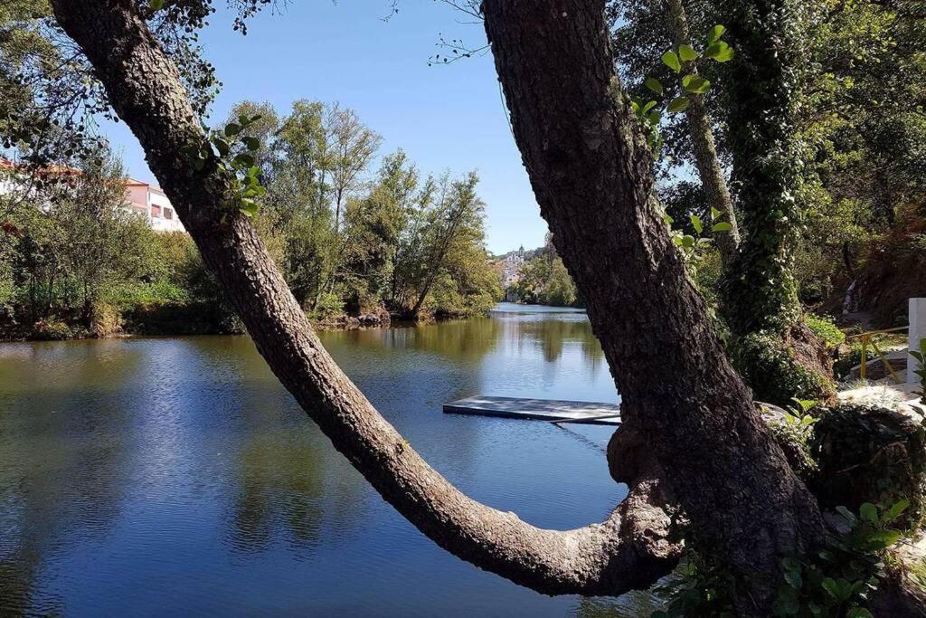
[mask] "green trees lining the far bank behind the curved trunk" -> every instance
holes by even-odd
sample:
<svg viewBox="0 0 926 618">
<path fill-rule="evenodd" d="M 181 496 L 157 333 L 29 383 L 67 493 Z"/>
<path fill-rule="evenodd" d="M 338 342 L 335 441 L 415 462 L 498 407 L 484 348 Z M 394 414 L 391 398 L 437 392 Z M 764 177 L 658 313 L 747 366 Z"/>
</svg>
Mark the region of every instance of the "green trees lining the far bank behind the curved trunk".
<svg viewBox="0 0 926 618">
<path fill-rule="evenodd" d="M 478 176 L 422 174 L 402 150 L 374 170 L 380 136 L 336 104 L 232 109 L 267 193 L 257 228 L 318 322 L 469 316 L 501 297 L 484 247 Z M 28 153 L 26 153 L 28 155 Z M 185 233 L 156 233 L 125 206 L 105 145 L 73 167 L 3 170 L 0 334 L 6 338 L 241 330 Z"/>
</svg>

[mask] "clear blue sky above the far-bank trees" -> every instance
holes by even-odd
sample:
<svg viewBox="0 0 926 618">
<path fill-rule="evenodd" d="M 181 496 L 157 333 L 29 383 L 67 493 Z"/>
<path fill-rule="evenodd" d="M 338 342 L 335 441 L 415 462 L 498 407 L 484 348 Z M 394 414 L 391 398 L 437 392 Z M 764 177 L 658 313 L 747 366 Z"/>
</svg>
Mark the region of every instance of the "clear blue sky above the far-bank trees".
<svg viewBox="0 0 926 618">
<path fill-rule="evenodd" d="M 428 66 L 439 34 L 485 43 L 482 24 L 434 0 L 296 1 L 262 12 L 248 33 L 232 32 L 223 0 L 201 40 L 223 86 L 212 108 L 224 120 L 241 99 L 269 101 L 281 113 L 300 98 L 340 101 L 382 134 L 381 153 L 404 148 L 425 172 L 480 173 L 487 244 L 493 253 L 544 242 L 527 173 L 507 123 L 491 55 Z M 131 176 L 155 182 L 124 124 L 103 131 Z"/>
</svg>

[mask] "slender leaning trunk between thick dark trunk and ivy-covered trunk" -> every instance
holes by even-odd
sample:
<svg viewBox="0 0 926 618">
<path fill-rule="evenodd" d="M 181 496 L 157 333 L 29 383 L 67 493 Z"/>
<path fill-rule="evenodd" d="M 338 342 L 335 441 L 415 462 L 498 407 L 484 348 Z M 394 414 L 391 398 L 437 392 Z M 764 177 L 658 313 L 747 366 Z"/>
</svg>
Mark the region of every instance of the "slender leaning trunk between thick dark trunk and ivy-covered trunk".
<svg viewBox="0 0 926 618">
<path fill-rule="evenodd" d="M 688 30 L 688 19 L 682 0 L 668 0 L 667 13 L 669 16 L 669 32 L 679 45 L 691 45 L 691 33 Z M 694 62 L 684 64 L 683 74 L 697 74 Z M 717 158 L 717 148 L 714 145 L 714 132 L 707 108 L 704 106 L 703 95 L 687 95 L 691 101 L 685 110 L 685 120 L 688 120 L 688 132 L 691 134 L 694 149 L 694 167 L 704 187 L 707 196 L 707 205 L 720 210 L 720 221 L 730 223 L 731 229 L 726 232 L 714 233 L 714 242 L 720 251 L 723 265 L 729 266 L 736 256 L 736 247 L 740 244 L 740 231 L 736 223 L 736 212 L 727 189 L 727 182 L 723 178 L 720 168 L 720 159 Z"/>
</svg>

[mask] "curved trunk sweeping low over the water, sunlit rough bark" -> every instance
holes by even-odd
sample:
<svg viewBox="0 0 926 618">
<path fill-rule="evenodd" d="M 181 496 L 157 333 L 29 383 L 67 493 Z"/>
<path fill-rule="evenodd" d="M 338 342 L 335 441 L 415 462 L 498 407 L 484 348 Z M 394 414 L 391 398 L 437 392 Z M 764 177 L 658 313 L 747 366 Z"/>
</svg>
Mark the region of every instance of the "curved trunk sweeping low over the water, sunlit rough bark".
<svg viewBox="0 0 926 618">
<path fill-rule="evenodd" d="M 433 470 L 332 360 L 254 226 L 210 162 L 181 156 L 204 139 L 180 74 L 131 0 L 54 0 L 109 100 L 141 142 L 208 268 L 257 350 L 307 414 L 383 498 L 442 548 L 546 594 L 618 595 L 651 585 L 679 556 L 656 470 L 634 479 L 606 522 L 565 532 L 524 523 L 468 498 Z"/>
</svg>

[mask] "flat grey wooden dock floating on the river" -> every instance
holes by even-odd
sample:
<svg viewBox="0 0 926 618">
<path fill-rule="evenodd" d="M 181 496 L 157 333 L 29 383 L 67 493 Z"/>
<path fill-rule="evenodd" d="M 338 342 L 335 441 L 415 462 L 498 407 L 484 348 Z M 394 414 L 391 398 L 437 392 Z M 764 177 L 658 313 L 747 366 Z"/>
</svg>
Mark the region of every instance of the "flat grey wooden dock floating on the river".
<svg viewBox="0 0 926 618">
<path fill-rule="evenodd" d="M 444 404 L 446 414 L 473 414 L 506 419 L 546 421 L 548 423 L 584 423 L 619 425 L 620 406 L 594 401 L 561 401 L 521 397 L 477 395 Z"/>
</svg>

